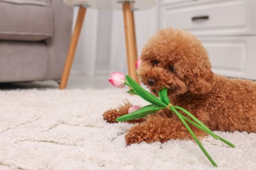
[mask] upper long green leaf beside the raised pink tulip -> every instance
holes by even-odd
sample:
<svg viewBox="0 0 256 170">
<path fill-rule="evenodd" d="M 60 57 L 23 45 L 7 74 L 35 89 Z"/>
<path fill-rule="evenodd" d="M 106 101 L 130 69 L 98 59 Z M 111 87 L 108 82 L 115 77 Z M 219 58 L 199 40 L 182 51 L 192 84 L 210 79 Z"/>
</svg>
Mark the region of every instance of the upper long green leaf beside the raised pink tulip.
<svg viewBox="0 0 256 170">
<path fill-rule="evenodd" d="M 144 99 L 154 105 L 159 105 L 161 107 L 167 106 L 165 103 L 163 103 L 163 101 L 158 99 L 158 97 L 156 97 L 156 96 L 152 95 L 152 93 L 144 90 L 144 88 L 142 88 L 139 84 L 137 84 L 137 82 L 135 82 L 135 80 L 133 80 L 130 76 L 126 75 L 126 80 L 131 85 L 131 88 L 135 91 L 135 93 L 140 95 L 140 97 L 142 97 L 142 99 Z"/>
</svg>

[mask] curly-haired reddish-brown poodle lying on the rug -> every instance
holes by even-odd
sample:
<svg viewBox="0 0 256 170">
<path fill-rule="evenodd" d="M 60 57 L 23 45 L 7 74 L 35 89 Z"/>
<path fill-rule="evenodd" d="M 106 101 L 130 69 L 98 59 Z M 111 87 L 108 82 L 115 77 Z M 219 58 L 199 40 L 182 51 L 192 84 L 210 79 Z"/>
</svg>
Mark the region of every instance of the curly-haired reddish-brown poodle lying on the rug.
<svg viewBox="0 0 256 170">
<path fill-rule="evenodd" d="M 168 88 L 173 105 L 189 110 L 211 130 L 256 132 L 256 82 L 215 75 L 207 51 L 188 31 L 160 29 L 144 46 L 140 59 L 141 81 L 154 95 Z M 115 122 L 127 114 L 129 105 L 106 111 L 104 119 Z M 190 127 L 197 136 L 206 135 Z M 147 116 L 125 136 L 127 145 L 190 138 L 181 120 L 168 110 Z"/>
</svg>

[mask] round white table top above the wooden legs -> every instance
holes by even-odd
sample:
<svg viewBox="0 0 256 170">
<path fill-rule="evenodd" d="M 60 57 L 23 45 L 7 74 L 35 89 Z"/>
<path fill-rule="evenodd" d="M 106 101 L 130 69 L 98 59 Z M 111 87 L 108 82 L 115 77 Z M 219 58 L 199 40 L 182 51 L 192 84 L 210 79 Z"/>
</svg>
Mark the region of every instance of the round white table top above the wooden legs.
<svg viewBox="0 0 256 170">
<path fill-rule="evenodd" d="M 72 7 L 82 5 L 92 9 L 121 10 L 125 1 L 131 2 L 133 10 L 150 9 L 157 5 L 156 0 L 64 0 L 64 3 Z"/>
</svg>

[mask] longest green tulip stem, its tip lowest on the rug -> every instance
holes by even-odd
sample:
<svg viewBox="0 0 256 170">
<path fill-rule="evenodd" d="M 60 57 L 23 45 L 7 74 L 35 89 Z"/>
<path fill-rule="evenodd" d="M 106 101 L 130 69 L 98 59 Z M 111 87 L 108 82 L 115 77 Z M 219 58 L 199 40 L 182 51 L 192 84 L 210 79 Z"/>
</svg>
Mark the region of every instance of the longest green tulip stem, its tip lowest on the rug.
<svg viewBox="0 0 256 170">
<path fill-rule="evenodd" d="M 200 141 L 198 140 L 198 138 L 196 137 L 196 135 L 194 134 L 194 132 L 192 131 L 192 129 L 190 129 L 190 127 L 188 126 L 188 124 L 185 122 L 185 120 L 182 118 L 181 113 L 179 113 L 174 107 L 171 107 L 171 110 L 173 112 L 175 112 L 175 114 L 177 114 L 177 116 L 179 117 L 179 119 L 181 120 L 181 122 L 184 124 L 184 126 L 186 127 L 186 129 L 188 129 L 189 133 L 192 135 L 192 137 L 194 138 L 194 140 L 196 141 L 196 143 L 198 144 L 198 146 L 201 148 L 201 150 L 203 151 L 203 154 L 205 154 L 205 156 L 208 158 L 209 161 L 211 161 L 211 163 L 213 164 L 213 166 L 218 167 L 217 164 L 215 163 L 215 161 L 213 161 L 213 159 L 211 158 L 211 156 L 209 156 L 208 152 L 205 150 L 205 148 L 203 148 L 203 145 L 200 143 Z"/>
</svg>

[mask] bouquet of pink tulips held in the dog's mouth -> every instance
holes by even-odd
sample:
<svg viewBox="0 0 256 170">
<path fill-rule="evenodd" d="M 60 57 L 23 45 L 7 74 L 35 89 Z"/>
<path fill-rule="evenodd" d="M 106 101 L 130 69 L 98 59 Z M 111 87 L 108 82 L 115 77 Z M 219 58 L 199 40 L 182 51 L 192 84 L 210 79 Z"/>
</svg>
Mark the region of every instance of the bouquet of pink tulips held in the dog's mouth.
<svg viewBox="0 0 256 170">
<path fill-rule="evenodd" d="M 148 101 L 149 103 L 152 103 L 151 105 L 147 105 L 142 108 L 138 106 L 131 107 L 128 111 L 129 114 L 120 116 L 119 118 L 116 119 L 117 122 L 142 118 L 148 114 L 154 114 L 158 110 L 168 109 L 174 112 L 179 117 L 181 122 L 184 124 L 186 129 L 188 129 L 189 133 L 192 135 L 192 137 L 198 144 L 198 146 L 202 149 L 205 156 L 209 159 L 209 161 L 211 161 L 211 163 L 215 167 L 217 167 L 217 164 L 215 163 L 215 161 L 213 161 L 211 156 L 209 156 L 205 148 L 203 148 L 202 144 L 200 143 L 200 141 L 198 140 L 198 138 L 196 137 L 192 129 L 190 129 L 187 122 L 193 126 L 198 127 L 202 131 L 205 131 L 205 133 L 208 133 L 213 138 L 219 139 L 224 143 L 228 144 L 229 146 L 231 146 L 232 148 L 234 148 L 234 144 L 226 141 L 222 137 L 219 137 L 218 135 L 213 133 L 213 131 L 211 131 L 207 126 L 205 126 L 202 122 L 200 122 L 200 120 L 198 120 L 195 116 L 193 116 L 190 112 L 188 112 L 188 110 L 179 106 L 172 105 L 167 96 L 167 88 L 163 88 L 162 90 L 160 90 L 160 92 L 158 93 L 160 98 L 158 98 L 152 95 L 152 93 L 144 90 L 144 88 L 142 88 L 139 84 L 137 84 L 137 82 L 135 82 L 131 77 L 127 75 L 125 76 L 122 73 L 117 73 L 117 72 L 112 73 L 111 77 L 108 80 L 112 85 L 116 86 L 117 88 L 123 88 L 125 85 L 129 86 L 131 90 L 129 90 L 127 93 L 139 95 L 140 97 L 142 97 L 142 99 Z M 178 110 L 181 110 L 184 114 L 186 114 L 186 116 L 184 116 L 184 114 L 181 114 Z"/>
</svg>

